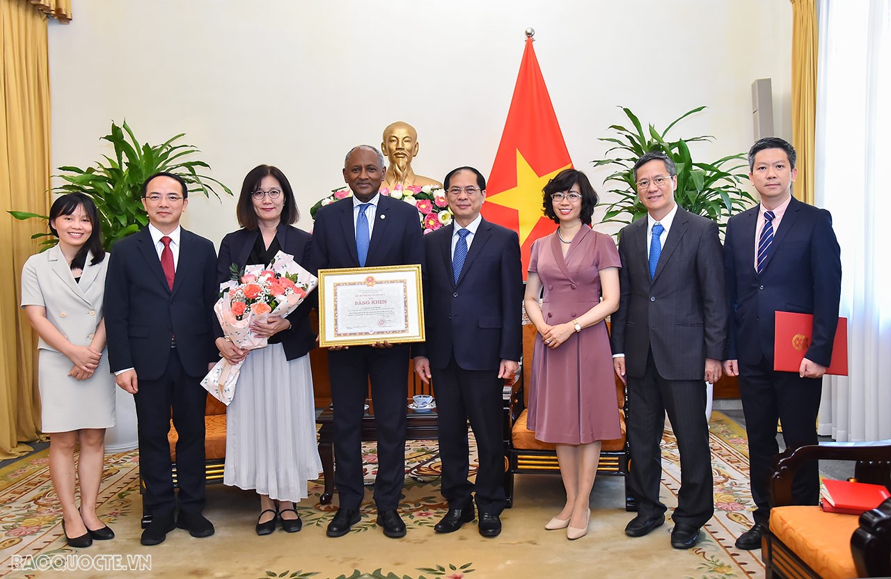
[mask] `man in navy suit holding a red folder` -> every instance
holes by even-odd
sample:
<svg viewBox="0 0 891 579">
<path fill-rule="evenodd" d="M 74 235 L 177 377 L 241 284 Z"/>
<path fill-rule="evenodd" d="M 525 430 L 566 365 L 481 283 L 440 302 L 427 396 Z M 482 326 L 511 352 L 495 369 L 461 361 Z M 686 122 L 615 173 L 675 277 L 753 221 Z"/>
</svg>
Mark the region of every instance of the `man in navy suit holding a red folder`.
<svg viewBox="0 0 891 579">
<path fill-rule="evenodd" d="M 755 525 L 736 541 L 758 549 L 768 524 L 768 470 L 779 452 L 777 420 L 788 448 L 817 444 L 822 375 L 830 365 L 841 295 L 841 251 L 832 216 L 792 197 L 796 152 L 768 137 L 748 151 L 749 177 L 761 203 L 727 224 L 724 268 L 730 300 L 730 346 L 724 371 L 740 376 L 748 432 Z M 773 370 L 775 314 L 813 314 L 813 338 L 797 372 Z M 797 504 L 817 504 L 816 461 L 799 470 Z"/>
</svg>

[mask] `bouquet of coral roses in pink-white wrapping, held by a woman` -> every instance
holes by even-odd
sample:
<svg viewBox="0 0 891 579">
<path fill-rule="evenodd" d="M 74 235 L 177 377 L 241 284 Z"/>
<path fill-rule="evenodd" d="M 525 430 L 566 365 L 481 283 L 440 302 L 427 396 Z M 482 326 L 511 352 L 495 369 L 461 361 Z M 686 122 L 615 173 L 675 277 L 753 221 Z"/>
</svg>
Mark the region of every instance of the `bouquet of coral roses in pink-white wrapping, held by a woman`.
<svg viewBox="0 0 891 579">
<path fill-rule="evenodd" d="M 266 347 L 268 338 L 255 336 L 250 331 L 251 322 L 266 320 L 270 315 L 290 314 L 316 285 L 315 275 L 294 261 L 293 256 L 279 251 L 272 264 L 247 265 L 243 273 L 233 264 L 233 279 L 220 284 L 220 298 L 214 312 L 226 339 L 235 346 L 246 350 Z M 223 358 L 201 380 L 201 386 L 228 406 L 235 396 L 243 363 L 233 365 Z"/>
</svg>

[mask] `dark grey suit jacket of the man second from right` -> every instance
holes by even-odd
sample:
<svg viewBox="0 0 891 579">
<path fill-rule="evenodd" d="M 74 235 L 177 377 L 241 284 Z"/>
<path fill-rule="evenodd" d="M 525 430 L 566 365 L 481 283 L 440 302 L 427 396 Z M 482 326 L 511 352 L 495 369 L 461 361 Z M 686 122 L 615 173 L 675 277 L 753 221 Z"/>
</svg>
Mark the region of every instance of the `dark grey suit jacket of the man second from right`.
<svg viewBox="0 0 891 579">
<path fill-rule="evenodd" d="M 722 360 L 727 344 L 717 224 L 677 208 L 652 280 L 646 216 L 622 229 L 618 255 L 621 289 L 610 342 L 614 354 L 625 354 L 627 374 L 643 376 L 652 348 L 663 378 L 705 379 L 706 358 Z"/>
</svg>

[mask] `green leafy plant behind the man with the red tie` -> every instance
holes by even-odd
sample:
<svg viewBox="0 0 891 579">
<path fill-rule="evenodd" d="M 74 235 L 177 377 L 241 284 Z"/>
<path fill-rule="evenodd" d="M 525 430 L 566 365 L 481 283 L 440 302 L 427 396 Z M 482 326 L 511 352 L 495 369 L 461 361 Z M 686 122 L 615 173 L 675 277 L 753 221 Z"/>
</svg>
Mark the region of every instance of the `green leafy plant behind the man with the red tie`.
<svg viewBox="0 0 891 579">
<path fill-rule="evenodd" d="M 53 189 L 54 193 L 86 193 L 99 209 L 99 219 L 104 236 L 103 245 L 110 249 L 116 241 L 139 231 L 149 223 L 143 208 L 141 189 L 147 177 L 167 171 L 183 177 L 189 193 L 200 193 L 206 197 L 214 195 L 220 199 L 217 188 L 228 195 L 232 191 L 217 179 L 203 175 L 210 166 L 193 156 L 200 150 L 191 144 L 177 143 L 184 133 L 170 137 L 164 143 L 140 144 L 124 121 L 123 126 L 111 123 L 110 135 L 102 137 L 114 147 L 112 155 L 102 155 L 104 161 L 97 161 L 93 167 L 59 167 L 65 183 Z M 47 216 L 24 211 L 10 211 L 16 219 L 48 219 Z M 31 239 L 47 238 L 41 241 L 44 249 L 55 245 L 52 233 L 35 233 Z"/>
</svg>

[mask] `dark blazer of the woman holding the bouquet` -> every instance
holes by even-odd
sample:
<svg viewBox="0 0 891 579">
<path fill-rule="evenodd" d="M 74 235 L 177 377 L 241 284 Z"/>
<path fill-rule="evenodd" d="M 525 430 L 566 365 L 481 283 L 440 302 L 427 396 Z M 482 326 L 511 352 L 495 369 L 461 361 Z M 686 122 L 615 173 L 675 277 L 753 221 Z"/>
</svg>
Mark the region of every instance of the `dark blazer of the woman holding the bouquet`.
<svg viewBox="0 0 891 579">
<path fill-rule="evenodd" d="M 217 258 L 217 287 L 230 278 L 229 268 L 235 264 L 241 270 L 248 263 L 250 250 L 253 249 L 259 229 L 240 229 L 237 232 L 228 233 L 220 242 L 220 255 Z M 312 248 L 312 238 L 309 233 L 292 227 L 288 224 L 279 224 L 275 232 L 282 251 L 294 257 L 298 264 L 303 265 L 308 271 L 312 271 L 309 265 L 309 254 Z M 290 328 L 275 334 L 282 340 L 285 358 L 296 360 L 315 347 L 315 333 L 309 324 L 309 312 L 316 301 L 315 291 L 296 310 L 290 313 L 288 320 Z M 217 316 L 214 316 L 214 331 L 217 338 L 223 336 Z"/>
</svg>

